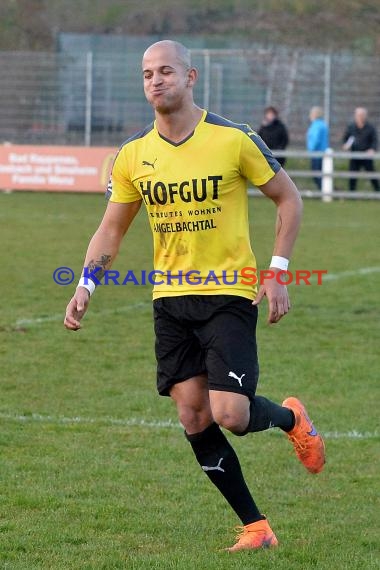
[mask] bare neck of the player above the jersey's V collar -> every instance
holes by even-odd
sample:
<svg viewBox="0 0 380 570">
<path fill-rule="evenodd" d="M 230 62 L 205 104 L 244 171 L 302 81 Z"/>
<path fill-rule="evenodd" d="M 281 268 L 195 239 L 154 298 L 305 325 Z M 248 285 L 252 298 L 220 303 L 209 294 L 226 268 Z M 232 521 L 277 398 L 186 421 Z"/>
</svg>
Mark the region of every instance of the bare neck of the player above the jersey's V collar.
<svg viewBox="0 0 380 570">
<path fill-rule="evenodd" d="M 202 113 L 202 109 L 196 105 L 165 115 L 156 112 L 157 130 L 170 141 L 181 142 L 194 131 L 202 118 Z"/>
</svg>

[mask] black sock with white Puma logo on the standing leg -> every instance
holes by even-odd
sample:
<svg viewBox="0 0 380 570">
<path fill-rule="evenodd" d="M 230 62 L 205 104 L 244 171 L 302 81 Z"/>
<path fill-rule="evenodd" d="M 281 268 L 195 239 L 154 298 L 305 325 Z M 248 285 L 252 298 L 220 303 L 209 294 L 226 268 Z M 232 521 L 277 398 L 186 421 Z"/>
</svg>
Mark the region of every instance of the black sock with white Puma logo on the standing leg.
<svg viewBox="0 0 380 570">
<path fill-rule="evenodd" d="M 241 471 L 237 455 L 220 427 L 213 423 L 201 433 L 188 435 L 199 465 L 229 502 L 243 525 L 262 520 Z"/>
</svg>

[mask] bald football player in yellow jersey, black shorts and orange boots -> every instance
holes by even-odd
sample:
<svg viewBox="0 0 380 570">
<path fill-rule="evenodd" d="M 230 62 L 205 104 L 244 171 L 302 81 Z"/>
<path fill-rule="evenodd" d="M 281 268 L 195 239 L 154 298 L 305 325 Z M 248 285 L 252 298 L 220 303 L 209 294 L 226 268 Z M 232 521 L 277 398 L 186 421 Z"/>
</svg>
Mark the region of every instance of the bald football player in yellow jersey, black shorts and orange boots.
<svg viewBox="0 0 380 570">
<path fill-rule="evenodd" d="M 268 279 L 256 294 L 253 280 L 242 278 L 244 268 L 256 267 L 247 180 L 277 206 L 273 274 L 287 267 L 301 218 L 300 196 L 248 125 L 195 105 L 197 71 L 183 45 L 169 40 L 153 44 L 144 54 L 142 72 L 155 121 L 119 150 L 109 203 L 90 241 L 64 324 L 71 330 L 81 327 L 98 280 L 144 204 L 157 272 L 158 391 L 175 402 L 199 465 L 243 524 L 236 544 L 227 550 L 274 547 L 277 538 L 220 428 L 245 436 L 278 427 L 311 473 L 323 468 L 323 440 L 302 403 L 291 397 L 278 405 L 256 396 L 257 305 L 266 296 L 269 322 L 277 323 L 290 308 L 287 289 Z"/>
</svg>

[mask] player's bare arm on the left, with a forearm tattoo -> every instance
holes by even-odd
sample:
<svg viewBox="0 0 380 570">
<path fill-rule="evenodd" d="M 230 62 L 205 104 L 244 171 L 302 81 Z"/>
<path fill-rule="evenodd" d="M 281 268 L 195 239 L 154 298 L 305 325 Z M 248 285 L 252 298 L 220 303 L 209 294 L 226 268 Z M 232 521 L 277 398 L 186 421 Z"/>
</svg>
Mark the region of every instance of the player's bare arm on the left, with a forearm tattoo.
<svg viewBox="0 0 380 570">
<path fill-rule="evenodd" d="M 109 202 L 104 217 L 93 235 L 84 261 L 87 274 L 95 268 L 98 280 L 114 261 L 121 241 L 139 211 L 141 200 L 129 203 Z M 81 328 L 83 318 L 90 301 L 90 294 L 85 287 L 78 287 L 66 308 L 64 325 L 69 330 Z"/>
</svg>

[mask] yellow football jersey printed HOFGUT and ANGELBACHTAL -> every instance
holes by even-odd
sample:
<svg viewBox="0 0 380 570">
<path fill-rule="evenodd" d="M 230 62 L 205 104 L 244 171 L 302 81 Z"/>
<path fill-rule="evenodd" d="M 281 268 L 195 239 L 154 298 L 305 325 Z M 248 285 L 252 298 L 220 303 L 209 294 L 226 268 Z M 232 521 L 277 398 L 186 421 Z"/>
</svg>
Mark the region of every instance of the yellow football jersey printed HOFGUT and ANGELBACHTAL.
<svg viewBox="0 0 380 570">
<path fill-rule="evenodd" d="M 143 200 L 154 241 L 153 298 L 224 294 L 254 299 L 241 270 L 256 267 L 247 182 L 268 182 L 280 165 L 249 125 L 203 111 L 180 143 L 155 122 L 128 139 L 115 159 L 111 202 Z"/>
</svg>

